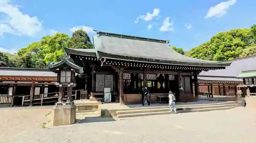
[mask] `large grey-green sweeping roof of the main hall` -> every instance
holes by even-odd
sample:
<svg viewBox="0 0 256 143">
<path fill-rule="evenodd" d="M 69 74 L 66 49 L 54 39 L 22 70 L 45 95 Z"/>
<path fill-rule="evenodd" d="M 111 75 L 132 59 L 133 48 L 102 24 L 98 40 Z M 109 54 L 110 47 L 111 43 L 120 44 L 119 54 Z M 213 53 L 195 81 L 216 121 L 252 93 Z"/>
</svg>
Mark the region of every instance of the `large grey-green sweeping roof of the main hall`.
<svg viewBox="0 0 256 143">
<path fill-rule="evenodd" d="M 96 54 L 98 58 L 120 60 L 128 60 L 127 58 L 153 59 L 153 61 L 160 61 L 160 63 L 175 65 L 213 67 L 230 65 L 230 63 L 206 61 L 182 55 L 170 48 L 169 41 L 166 40 L 97 32 L 97 35 L 93 37 L 93 42 L 95 51 L 93 49 L 66 49 L 66 52 L 85 55 Z"/>
</svg>

